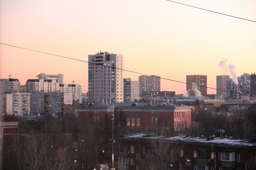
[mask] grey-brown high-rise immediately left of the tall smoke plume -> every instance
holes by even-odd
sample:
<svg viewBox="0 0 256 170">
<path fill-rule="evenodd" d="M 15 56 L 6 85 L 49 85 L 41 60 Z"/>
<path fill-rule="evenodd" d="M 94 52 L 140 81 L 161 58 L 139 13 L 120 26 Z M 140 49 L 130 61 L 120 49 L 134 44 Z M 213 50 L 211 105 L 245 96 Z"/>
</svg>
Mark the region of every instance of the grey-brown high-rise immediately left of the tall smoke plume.
<svg viewBox="0 0 256 170">
<path fill-rule="evenodd" d="M 229 79 L 229 75 L 216 76 L 216 94 L 222 95 L 222 99 L 227 98 L 227 79 Z"/>
</svg>

